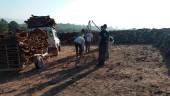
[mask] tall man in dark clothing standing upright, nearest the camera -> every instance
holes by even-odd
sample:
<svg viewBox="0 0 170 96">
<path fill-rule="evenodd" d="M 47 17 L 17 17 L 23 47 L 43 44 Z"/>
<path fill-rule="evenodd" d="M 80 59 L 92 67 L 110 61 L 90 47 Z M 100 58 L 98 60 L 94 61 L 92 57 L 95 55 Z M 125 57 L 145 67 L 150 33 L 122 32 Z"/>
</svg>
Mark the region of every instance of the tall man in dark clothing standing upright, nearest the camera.
<svg viewBox="0 0 170 96">
<path fill-rule="evenodd" d="M 109 58 L 108 44 L 109 44 L 109 32 L 106 31 L 107 25 L 104 24 L 101 27 L 100 43 L 99 43 L 99 63 L 98 67 L 103 66 L 105 61 Z"/>
</svg>

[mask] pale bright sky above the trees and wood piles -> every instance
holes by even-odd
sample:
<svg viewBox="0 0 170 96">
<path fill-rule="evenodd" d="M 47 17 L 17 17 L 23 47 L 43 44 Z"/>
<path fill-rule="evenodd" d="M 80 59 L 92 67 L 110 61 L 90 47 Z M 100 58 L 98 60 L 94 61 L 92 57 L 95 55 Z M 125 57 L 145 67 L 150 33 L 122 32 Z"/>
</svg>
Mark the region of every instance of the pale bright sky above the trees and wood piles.
<svg viewBox="0 0 170 96">
<path fill-rule="evenodd" d="M 1 0 L 0 17 L 50 15 L 57 23 L 93 20 L 113 28 L 170 28 L 170 0 Z"/>
</svg>

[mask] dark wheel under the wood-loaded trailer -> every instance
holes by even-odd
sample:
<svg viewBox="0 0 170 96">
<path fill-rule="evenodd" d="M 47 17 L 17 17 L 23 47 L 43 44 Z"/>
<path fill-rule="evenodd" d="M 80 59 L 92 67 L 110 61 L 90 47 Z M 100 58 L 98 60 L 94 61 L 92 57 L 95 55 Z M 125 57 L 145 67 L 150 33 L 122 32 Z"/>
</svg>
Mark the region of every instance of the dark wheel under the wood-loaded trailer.
<svg viewBox="0 0 170 96">
<path fill-rule="evenodd" d="M 36 67 L 37 69 L 42 69 L 42 68 L 44 68 L 44 61 L 43 61 L 42 56 L 34 56 L 33 62 L 34 62 L 35 67 Z"/>
</svg>

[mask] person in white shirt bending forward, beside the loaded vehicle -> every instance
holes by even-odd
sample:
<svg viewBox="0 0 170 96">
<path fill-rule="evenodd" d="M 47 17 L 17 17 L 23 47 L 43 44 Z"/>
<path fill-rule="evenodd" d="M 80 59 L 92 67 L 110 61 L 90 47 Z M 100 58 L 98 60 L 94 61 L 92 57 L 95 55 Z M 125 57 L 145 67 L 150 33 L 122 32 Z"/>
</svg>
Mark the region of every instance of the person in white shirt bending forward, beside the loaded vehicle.
<svg viewBox="0 0 170 96">
<path fill-rule="evenodd" d="M 83 51 L 84 51 L 84 45 L 85 45 L 85 40 L 82 35 L 77 36 L 74 39 L 74 44 L 76 48 L 76 57 L 80 58 L 83 56 Z"/>
</svg>

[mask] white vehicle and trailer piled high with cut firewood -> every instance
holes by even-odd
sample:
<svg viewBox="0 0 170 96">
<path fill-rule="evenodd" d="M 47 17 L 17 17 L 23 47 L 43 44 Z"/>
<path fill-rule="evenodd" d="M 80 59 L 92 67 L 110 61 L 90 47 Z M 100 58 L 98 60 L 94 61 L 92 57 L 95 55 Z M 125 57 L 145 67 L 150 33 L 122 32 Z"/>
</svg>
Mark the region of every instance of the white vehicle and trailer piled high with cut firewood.
<svg viewBox="0 0 170 96">
<path fill-rule="evenodd" d="M 26 24 L 27 32 L 0 35 L 0 71 L 21 70 L 32 63 L 36 68 L 42 68 L 43 59 L 49 55 L 50 49 L 58 53 L 60 40 L 53 19 L 49 16 L 32 16 Z"/>
</svg>

